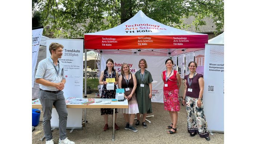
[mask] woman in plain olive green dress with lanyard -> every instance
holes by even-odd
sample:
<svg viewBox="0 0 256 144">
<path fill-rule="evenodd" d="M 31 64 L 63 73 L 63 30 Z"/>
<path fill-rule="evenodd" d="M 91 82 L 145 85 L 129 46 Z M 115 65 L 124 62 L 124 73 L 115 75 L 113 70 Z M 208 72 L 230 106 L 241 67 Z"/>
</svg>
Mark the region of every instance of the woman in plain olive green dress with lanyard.
<svg viewBox="0 0 256 144">
<path fill-rule="evenodd" d="M 145 59 L 139 60 L 139 71 L 135 73 L 135 77 L 137 79 L 137 88 L 136 88 L 136 95 L 137 95 L 137 102 L 139 107 L 139 113 L 137 114 L 137 122 L 135 126 L 139 126 L 139 118 L 140 115 L 143 114 L 143 121 L 142 126 L 147 128 L 147 124 L 145 123 L 147 114 L 152 113 L 152 106 L 151 106 L 151 98 L 152 98 L 152 85 L 153 82 L 152 76 L 149 71 L 146 70 L 147 62 Z"/>
</svg>

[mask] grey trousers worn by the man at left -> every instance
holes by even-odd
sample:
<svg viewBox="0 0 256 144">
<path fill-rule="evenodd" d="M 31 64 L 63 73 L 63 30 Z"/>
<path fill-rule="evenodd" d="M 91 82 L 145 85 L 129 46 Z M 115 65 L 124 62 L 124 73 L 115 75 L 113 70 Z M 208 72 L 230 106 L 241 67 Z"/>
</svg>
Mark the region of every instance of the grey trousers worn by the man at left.
<svg viewBox="0 0 256 144">
<path fill-rule="evenodd" d="M 66 108 L 66 102 L 63 95 L 63 91 L 57 94 L 39 90 L 38 96 L 42 105 L 43 115 L 43 129 L 46 141 L 52 139 L 52 130 L 50 120 L 52 119 L 52 106 L 56 108 L 59 116 L 59 132 L 60 139 L 66 139 L 66 127 L 68 119 L 68 110 Z"/>
</svg>

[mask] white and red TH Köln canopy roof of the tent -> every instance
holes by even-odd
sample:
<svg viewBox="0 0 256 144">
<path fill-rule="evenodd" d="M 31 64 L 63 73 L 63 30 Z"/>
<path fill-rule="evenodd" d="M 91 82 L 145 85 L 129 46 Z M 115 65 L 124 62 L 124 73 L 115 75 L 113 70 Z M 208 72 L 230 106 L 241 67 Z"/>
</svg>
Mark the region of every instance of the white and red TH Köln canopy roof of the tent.
<svg viewBox="0 0 256 144">
<path fill-rule="evenodd" d="M 142 11 L 114 28 L 84 35 L 85 49 L 204 48 L 208 35 L 161 24 Z"/>
</svg>

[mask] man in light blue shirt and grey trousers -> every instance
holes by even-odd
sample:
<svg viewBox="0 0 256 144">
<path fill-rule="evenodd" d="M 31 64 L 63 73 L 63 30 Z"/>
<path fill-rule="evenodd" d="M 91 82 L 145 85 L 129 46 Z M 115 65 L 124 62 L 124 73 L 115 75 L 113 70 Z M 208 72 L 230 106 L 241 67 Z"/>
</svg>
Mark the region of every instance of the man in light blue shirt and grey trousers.
<svg viewBox="0 0 256 144">
<path fill-rule="evenodd" d="M 52 118 L 52 106 L 56 108 L 59 115 L 59 144 L 75 144 L 66 137 L 66 126 L 68 111 L 63 95 L 64 85 L 66 83 L 64 75 L 64 65 L 58 58 L 62 56 L 64 46 L 53 42 L 49 46 L 51 56 L 38 63 L 35 75 L 35 82 L 39 83 L 40 90 L 38 97 L 40 99 L 43 115 L 43 129 L 46 144 L 54 144 L 50 119 Z"/>
</svg>

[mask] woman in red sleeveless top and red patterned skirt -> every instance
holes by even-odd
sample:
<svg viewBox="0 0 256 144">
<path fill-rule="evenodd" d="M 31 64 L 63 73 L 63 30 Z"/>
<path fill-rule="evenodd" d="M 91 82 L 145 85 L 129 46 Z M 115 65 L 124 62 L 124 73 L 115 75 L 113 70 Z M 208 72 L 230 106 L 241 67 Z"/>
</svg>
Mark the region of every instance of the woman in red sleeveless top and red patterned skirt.
<svg viewBox="0 0 256 144">
<path fill-rule="evenodd" d="M 168 58 L 165 61 L 167 70 L 162 72 L 163 79 L 163 103 L 164 110 L 169 111 L 171 117 L 171 125 L 166 127 L 170 129 L 167 133 L 175 133 L 178 121 L 178 111 L 180 111 L 179 104 L 179 87 L 180 87 L 180 75 L 176 70 L 172 69 L 173 61 Z"/>
</svg>

